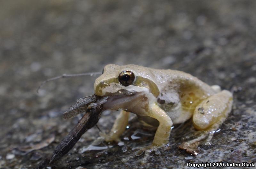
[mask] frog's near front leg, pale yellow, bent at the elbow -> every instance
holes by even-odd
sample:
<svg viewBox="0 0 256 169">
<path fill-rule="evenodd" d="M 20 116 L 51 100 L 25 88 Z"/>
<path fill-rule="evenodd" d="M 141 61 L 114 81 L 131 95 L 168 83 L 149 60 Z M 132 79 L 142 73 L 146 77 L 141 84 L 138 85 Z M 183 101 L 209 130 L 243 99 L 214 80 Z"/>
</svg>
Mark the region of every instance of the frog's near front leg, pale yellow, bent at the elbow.
<svg viewBox="0 0 256 169">
<path fill-rule="evenodd" d="M 149 111 L 150 112 L 148 113 L 148 116 L 153 117 L 159 121 L 159 126 L 156 130 L 152 145 L 158 146 L 168 143 L 172 127 L 171 118 L 165 113 L 163 109 L 156 105 L 156 103 L 153 104 L 151 110 Z"/>
</svg>

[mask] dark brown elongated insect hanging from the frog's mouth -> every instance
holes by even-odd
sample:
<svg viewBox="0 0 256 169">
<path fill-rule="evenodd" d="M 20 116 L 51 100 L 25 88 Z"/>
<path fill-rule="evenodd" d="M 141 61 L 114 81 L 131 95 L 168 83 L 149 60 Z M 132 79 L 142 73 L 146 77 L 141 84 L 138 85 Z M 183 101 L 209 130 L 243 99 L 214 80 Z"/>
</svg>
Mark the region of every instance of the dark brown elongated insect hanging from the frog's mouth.
<svg viewBox="0 0 256 169">
<path fill-rule="evenodd" d="M 108 97 L 99 97 L 90 95 L 78 99 L 64 114 L 64 118 L 71 118 L 78 113 L 83 113 L 84 116 L 79 120 L 76 126 L 68 133 L 68 135 L 60 142 L 60 144 L 53 151 L 50 163 L 60 159 L 74 147 L 81 136 L 89 129 L 91 129 L 100 119 L 101 113 L 104 111 L 103 103 L 107 101 Z M 90 106 L 93 104 L 93 106 Z M 88 109 L 87 109 L 88 108 Z"/>
</svg>

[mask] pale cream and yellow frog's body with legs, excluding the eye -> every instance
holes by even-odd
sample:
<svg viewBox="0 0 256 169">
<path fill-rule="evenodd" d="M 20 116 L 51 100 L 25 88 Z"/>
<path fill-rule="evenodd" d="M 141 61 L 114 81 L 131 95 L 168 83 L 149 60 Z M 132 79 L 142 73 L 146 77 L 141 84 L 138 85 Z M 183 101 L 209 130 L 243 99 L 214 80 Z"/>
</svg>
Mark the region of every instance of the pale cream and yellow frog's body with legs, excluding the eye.
<svg viewBox="0 0 256 169">
<path fill-rule="evenodd" d="M 123 71 L 135 75 L 129 86 L 118 81 L 118 75 Z M 122 95 L 124 91 L 135 94 Z M 233 103 L 231 92 L 220 90 L 217 85 L 209 86 L 190 74 L 138 65 L 106 65 L 104 73 L 95 80 L 94 92 L 99 96 L 113 96 L 104 104 L 106 109 L 121 109 L 105 141 L 119 139 L 128 124 L 130 112 L 148 126 L 158 126 L 152 146 L 167 144 L 172 125 L 192 117 L 193 126 L 202 132 L 196 139 L 183 143 L 184 149 L 207 136 L 211 140 L 212 131 L 218 130 Z"/>
</svg>

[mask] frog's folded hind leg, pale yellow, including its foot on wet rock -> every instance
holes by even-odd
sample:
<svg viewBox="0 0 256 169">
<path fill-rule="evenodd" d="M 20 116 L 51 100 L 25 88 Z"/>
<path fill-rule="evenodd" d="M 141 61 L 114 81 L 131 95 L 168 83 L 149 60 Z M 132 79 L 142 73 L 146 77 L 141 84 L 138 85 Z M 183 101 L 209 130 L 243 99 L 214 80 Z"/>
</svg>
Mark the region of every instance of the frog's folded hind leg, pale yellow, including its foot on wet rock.
<svg viewBox="0 0 256 169">
<path fill-rule="evenodd" d="M 213 133 L 231 111 L 232 103 L 233 96 L 228 90 L 222 90 L 200 102 L 193 113 L 193 125 L 199 135 L 197 138 L 181 144 L 179 148 L 196 155 L 195 149 L 200 144 L 199 141 L 207 136 L 206 142 L 211 141 Z"/>
</svg>

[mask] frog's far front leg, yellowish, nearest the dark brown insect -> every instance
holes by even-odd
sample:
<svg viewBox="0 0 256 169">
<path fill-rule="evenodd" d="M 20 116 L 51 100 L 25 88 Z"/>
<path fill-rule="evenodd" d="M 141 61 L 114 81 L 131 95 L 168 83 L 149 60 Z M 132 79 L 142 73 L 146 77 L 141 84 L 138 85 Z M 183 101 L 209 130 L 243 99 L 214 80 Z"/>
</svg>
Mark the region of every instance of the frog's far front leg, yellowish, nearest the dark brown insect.
<svg viewBox="0 0 256 169">
<path fill-rule="evenodd" d="M 110 132 L 105 136 L 105 141 L 117 141 L 124 132 L 129 119 L 129 112 L 121 110 Z"/>
</svg>

